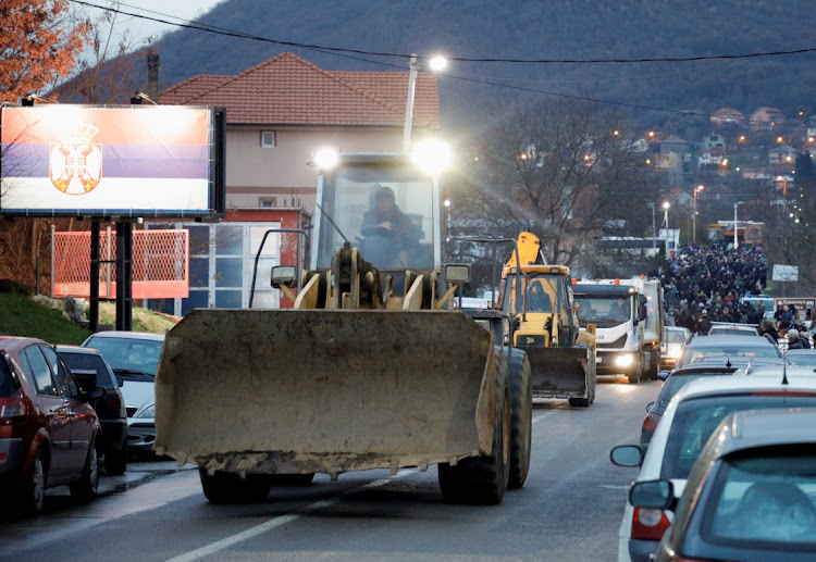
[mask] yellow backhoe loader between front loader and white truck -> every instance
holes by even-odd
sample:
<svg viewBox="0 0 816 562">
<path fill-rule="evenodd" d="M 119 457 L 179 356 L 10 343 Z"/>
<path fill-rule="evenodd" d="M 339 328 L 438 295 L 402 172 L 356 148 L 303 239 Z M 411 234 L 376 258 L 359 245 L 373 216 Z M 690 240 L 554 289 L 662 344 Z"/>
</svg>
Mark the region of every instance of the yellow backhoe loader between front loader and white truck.
<svg viewBox="0 0 816 562">
<path fill-rule="evenodd" d="M 518 246 L 521 265 L 515 258 L 505 265 L 499 305 L 515 317 L 514 345 L 527 352 L 533 397 L 586 408 L 595 400 L 595 338 L 592 328 L 580 329 L 569 268 L 544 264 L 531 233 L 521 233 Z"/>
</svg>

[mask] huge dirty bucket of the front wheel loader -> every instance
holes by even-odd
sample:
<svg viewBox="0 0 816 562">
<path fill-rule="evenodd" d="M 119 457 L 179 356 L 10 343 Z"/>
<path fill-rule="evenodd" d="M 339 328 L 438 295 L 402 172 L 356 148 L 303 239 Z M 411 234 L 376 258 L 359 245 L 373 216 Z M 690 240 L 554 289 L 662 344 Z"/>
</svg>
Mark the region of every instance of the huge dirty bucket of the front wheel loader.
<svg viewBox="0 0 816 562">
<path fill-rule="evenodd" d="M 455 463 L 491 450 L 493 353 L 461 312 L 194 310 L 162 350 L 154 449 L 240 474 Z"/>
</svg>

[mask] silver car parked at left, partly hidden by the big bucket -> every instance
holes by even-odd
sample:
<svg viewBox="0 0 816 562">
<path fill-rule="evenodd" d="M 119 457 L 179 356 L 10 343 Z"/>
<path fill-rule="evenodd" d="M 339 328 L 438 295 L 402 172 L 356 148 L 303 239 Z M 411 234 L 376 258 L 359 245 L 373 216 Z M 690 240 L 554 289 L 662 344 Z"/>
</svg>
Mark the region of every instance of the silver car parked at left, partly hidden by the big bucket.
<svg viewBox="0 0 816 562">
<path fill-rule="evenodd" d="M 156 424 L 150 419 L 134 420 L 137 412 L 156 403 L 156 371 L 164 346 L 163 334 L 146 332 L 98 332 L 83 347 L 98 349 L 122 377 L 122 396 L 127 412 L 127 449 L 131 453 L 150 453 L 156 442 Z"/>
</svg>

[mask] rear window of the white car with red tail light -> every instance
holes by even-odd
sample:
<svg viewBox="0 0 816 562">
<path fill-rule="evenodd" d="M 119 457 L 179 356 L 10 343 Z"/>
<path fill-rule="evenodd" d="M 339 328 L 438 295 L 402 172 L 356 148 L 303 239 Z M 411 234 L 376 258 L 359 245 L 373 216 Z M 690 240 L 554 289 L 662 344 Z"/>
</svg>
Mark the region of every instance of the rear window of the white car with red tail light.
<svg viewBox="0 0 816 562">
<path fill-rule="evenodd" d="M 692 398 L 678 404 L 660 466 L 660 478 L 688 478 L 705 442 L 725 416 L 739 410 L 815 407 L 814 396 L 728 395 Z"/>
</svg>

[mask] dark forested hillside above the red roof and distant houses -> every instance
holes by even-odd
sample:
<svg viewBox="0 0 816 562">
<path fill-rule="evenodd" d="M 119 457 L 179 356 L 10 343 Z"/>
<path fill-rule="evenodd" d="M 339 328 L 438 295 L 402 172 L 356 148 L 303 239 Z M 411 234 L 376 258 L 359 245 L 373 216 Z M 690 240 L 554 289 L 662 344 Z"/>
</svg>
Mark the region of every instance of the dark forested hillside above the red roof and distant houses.
<svg viewBox="0 0 816 562">
<path fill-rule="evenodd" d="M 199 21 L 293 42 L 492 59 L 692 57 L 816 47 L 813 0 L 226 0 Z M 158 47 L 162 88 L 196 74 L 236 74 L 284 50 L 329 70 L 394 70 L 193 29 L 172 32 Z M 407 66 L 400 59 L 355 57 Z M 636 105 L 706 112 L 727 105 L 743 113 L 770 105 L 788 115 L 809 115 L 816 113 L 815 63 L 816 53 L 805 53 L 640 64 L 457 62 L 448 72 Z M 443 78 L 443 116 L 446 111 L 461 116 L 453 110 L 511 91 L 523 90 Z M 653 122 L 663 118 L 650 112 Z"/>
</svg>

